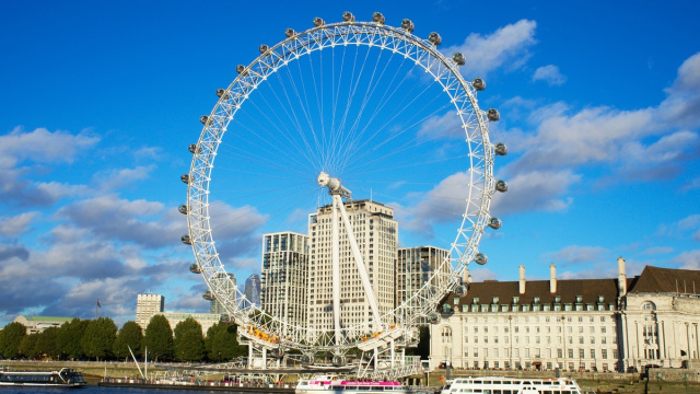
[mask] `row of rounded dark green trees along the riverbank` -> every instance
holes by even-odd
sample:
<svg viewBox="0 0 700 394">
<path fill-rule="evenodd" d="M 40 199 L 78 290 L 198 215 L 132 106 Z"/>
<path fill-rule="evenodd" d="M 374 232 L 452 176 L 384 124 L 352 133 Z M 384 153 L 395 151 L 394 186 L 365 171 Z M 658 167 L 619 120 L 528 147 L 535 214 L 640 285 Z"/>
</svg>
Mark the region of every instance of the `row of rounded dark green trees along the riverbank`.
<svg viewBox="0 0 700 394">
<path fill-rule="evenodd" d="M 20 323 L 10 323 L 0 331 L 0 355 L 7 359 L 122 360 L 145 356 L 154 361 L 223 361 L 247 355 L 238 345 L 236 326 L 217 323 L 202 335 L 201 325 L 192 317 L 171 329 L 167 318 L 154 315 L 145 328 L 127 322 L 117 331 L 109 317 L 73 318 L 60 327 L 27 334 Z"/>
</svg>

